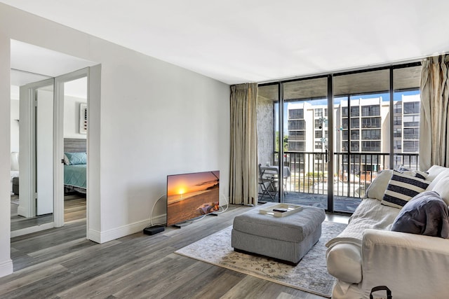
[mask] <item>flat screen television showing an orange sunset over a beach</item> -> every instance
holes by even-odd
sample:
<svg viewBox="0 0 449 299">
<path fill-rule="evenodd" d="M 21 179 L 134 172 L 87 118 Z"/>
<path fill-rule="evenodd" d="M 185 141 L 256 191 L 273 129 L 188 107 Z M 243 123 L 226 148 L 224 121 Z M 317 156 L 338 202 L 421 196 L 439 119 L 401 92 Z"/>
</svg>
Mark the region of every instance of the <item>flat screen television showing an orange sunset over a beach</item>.
<svg viewBox="0 0 449 299">
<path fill-rule="evenodd" d="M 220 171 L 167 176 L 167 226 L 218 211 Z"/>
</svg>

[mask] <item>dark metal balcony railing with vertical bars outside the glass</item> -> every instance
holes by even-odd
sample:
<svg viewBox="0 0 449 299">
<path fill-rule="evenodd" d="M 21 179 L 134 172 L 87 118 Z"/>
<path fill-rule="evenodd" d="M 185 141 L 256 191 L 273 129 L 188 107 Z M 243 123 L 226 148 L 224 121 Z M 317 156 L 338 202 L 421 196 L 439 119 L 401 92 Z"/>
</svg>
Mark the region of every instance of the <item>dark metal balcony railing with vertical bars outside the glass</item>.
<svg viewBox="0 0 449 299">
<path fill-rule="evenodd" d="M 278 164 L 279 153 L 274 153 Z M 284 152 L 283 166 L 290 167 L 284 178 L 287 192 L 327 194 L 328 180 L 333 181 L 334 195 L 360 198 L 382 169 L 389 169 L 389 153 L 334 153 L 334 173 L 328 173 L 324 152 Z M 394 153 L 394 167 L 418 168 L 417 153 Z"/>
</svg>

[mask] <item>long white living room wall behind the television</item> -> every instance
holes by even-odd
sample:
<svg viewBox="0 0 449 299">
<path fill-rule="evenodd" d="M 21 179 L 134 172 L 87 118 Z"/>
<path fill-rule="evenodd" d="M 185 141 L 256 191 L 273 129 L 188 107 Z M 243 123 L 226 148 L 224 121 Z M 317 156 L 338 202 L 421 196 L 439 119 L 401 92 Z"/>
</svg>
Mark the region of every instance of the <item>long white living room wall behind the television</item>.
<svg viewBox="0 0 449 299">
<path fill-rule="evenodd" d="M 0 144 L 0 276 L 12 270 L 10 39 L 101 63 L 101 99 L 89 102 L 88 129 L 95 169 L 89 183 L 99 188 L 98 196 L 88 194 L 88 229 L 95 241 L 142 230 L 165 193 L 167 174 L 220 169 L 220 191 L 228 197 L 229 85 L 4 4 L 0 28 L 0 138 L 8 140 Z M 154 216 L 163 214 L 161 202 Z"/>
</svg>

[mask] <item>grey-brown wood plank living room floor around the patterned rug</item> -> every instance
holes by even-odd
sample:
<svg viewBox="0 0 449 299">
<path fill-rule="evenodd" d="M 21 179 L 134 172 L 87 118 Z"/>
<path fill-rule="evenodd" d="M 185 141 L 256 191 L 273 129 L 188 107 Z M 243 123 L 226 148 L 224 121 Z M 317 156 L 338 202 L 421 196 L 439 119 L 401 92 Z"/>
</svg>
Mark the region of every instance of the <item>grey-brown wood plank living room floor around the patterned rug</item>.
<svg viewBox="0 0 449 299">
<path fill-rule="evenodd" d="M 174 253 L 248 209 L 232 205 L 180 229 L 105 244 L 85 238 L 83 219 L 15 237 L 15 272 L 0 278 L 0 298 L 322 298 Z"/>
</svg>

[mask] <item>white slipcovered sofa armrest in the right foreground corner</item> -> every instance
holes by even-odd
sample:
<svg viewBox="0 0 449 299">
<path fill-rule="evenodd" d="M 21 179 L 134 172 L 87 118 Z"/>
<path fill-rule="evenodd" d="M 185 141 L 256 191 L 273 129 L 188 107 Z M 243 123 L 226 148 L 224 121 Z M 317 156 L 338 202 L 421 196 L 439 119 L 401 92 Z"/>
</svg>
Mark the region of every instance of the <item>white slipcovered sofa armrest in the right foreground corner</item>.
<svg viewBox="0 0 449 299">
<path fill-rule="evenodd" d="M 447 298 L 449 239 L 405 232 L 363 232 L 361 287 L 388 286 L 394 298 Z"/>
</svg>

